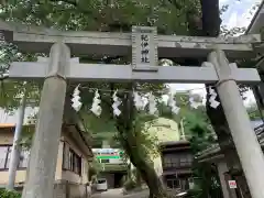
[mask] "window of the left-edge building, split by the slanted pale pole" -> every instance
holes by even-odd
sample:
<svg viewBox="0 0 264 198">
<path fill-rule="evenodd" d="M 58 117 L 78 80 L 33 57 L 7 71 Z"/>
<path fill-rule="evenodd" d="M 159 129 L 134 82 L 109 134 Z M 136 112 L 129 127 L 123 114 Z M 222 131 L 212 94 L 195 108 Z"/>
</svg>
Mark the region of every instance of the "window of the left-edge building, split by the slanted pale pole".
<svg viewBox="0 0 264 198">
<path fill-rule="evenodd" d="M 0 146 L 0 169 L 8 169 L 11 158 L 12 145 Z M 20 152 L 19 168 L 26 168 L 30 151 L 22 150 Z"/>
</svg>

